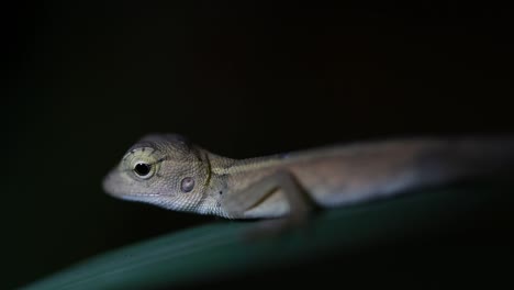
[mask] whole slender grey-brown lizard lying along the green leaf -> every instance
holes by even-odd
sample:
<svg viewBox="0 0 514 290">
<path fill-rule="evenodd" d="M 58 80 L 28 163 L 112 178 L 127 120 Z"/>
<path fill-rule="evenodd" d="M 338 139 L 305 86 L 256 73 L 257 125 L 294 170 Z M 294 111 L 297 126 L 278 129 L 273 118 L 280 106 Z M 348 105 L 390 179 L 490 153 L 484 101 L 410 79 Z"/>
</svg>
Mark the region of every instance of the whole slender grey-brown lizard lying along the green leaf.
<svg viewBox="0 0 514 290">
<path fill-rule="evenodd" d="M 297 221 L 314 209 L 505 176 L 513 165 L 512 136 L 389 138 L 233 159 L 178 134 L 149 134 L 102 185 L 115 198 L 175 211 Z"/>
</svg>

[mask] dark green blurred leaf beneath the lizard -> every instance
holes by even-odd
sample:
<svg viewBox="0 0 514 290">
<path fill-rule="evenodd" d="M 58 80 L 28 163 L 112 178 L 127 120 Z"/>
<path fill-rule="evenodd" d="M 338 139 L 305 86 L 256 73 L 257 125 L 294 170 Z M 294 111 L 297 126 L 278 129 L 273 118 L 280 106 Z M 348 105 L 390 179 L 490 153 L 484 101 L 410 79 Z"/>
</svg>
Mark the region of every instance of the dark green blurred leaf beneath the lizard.
<svg viewBox="0 0 514 290">
<path fill-rule="evenodd" d="M 423 190 L 323 211 L 301 227 L 254 239 L 245 234 L 258 223 L 220 221 L 92 257 L 26 289 L 148 289 L 231 279 L 358 253 L 449 224 L 467 227 L 473 223 L 469 216 L 512 204 L 512 187 L 481 185 Z"/>
</svg>

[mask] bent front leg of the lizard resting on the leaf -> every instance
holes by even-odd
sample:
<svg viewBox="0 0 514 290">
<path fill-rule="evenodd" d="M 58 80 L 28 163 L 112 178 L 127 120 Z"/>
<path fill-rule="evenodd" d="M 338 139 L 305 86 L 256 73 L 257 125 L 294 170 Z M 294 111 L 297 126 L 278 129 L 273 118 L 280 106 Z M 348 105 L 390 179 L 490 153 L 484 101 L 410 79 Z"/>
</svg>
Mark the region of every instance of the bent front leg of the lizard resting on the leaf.
<svg viewBox="0 0 514 290">
<path fill-rule="evenodd" d="M 288 170 L 279 170 L 252 183 L 246 189 L 227 194 L 222 200 L 223 209 L 233 217 L 244 217 L 245 212 L 259 205 L 278 190 L 282 190 L 289 204 L 286 223 L 302 221 L 317 208 L 298 179 Z M 262 216 L 266 217 L 266 216 Z"/>
</svg>

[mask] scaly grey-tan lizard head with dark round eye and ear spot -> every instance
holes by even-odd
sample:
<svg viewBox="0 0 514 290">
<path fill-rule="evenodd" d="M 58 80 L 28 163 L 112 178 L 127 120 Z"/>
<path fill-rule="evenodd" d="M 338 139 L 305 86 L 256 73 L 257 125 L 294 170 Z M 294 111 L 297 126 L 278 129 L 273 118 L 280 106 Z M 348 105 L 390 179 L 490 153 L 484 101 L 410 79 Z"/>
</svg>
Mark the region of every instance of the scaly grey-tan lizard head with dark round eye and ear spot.
<svg viewBox="0 0 514 290">
<path fill-rule="evenodd" d="M 103 189 L 124 200 L 198 211 L 211 177 L 206 155 L 180 135 L 148 135 L 108 174 Z"/>
</svg>

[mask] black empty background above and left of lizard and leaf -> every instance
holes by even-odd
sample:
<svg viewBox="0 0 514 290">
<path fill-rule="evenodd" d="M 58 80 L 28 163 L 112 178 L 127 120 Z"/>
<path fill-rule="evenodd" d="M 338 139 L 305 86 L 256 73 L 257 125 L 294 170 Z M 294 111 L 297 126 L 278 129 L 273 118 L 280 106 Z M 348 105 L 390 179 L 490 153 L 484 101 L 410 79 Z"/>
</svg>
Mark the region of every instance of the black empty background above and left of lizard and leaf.
<svg viewBox="0 0 514 290">
<path fill-rule="evenodd" d="M 104 194 L 146 133 L 250 157 L 513 129 L 506 8 L 169 2 L 2 4 L 2 289 L 213 220 Z"/>
</svg>

